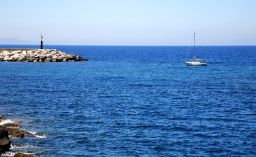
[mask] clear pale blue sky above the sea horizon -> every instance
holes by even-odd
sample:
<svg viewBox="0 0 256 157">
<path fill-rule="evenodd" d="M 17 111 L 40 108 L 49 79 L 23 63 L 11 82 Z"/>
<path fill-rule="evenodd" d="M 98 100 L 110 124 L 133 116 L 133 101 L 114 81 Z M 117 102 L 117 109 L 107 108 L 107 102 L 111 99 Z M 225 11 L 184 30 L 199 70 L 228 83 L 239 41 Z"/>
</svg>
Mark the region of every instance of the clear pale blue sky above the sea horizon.
<svg viewBox="0 0 256 157">
<path fill-rule="evenodd" d="M 256 0 L 0 0 L 0 44 L 256 45 Z M 15 43 L 16 42 L 16 43 Z"/>
</svg>

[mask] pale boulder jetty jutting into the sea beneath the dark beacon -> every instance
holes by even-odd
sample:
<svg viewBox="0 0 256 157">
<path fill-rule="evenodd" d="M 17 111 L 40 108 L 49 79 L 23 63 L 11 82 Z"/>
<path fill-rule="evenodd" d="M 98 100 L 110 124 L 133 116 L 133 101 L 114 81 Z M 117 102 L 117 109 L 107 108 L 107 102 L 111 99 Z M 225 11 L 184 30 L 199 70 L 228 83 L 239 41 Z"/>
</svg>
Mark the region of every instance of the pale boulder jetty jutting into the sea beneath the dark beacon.
<svg viewBox="0 0 256 157">
<path fill-rule="evenodd" d="M 0 61 L 58 62 L 87 61 L 87 59 L 56 49 L 0 48 Z"/>
</svg>

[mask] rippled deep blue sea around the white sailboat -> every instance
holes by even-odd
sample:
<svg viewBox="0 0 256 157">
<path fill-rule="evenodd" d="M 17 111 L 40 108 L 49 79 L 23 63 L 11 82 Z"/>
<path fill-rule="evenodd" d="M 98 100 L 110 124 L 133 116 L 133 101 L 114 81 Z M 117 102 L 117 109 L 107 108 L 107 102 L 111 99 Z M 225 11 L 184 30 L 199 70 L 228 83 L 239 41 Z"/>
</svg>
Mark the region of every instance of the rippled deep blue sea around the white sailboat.
<svg viewBox="0 0 256 157">
<path fill-rule="evenodd" d="M 189 46 L 45 48 L 88 61 L 0 62 L 0 114 L 34 134 L 10 154 L 256 156 L 256 46 L 196 46 L 208 67 Z"/>
</svg>

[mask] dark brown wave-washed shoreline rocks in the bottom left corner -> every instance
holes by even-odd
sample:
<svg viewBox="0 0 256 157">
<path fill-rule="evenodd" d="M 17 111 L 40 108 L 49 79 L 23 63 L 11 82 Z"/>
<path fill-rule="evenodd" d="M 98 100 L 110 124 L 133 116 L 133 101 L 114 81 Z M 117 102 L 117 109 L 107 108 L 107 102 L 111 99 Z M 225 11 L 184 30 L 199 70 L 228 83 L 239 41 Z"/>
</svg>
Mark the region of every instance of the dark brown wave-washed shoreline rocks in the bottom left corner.
<svg viewBox="0 0 256 157">
<path fill-rule="evenodd" d="M 0 116 L 0 122 L 2 120 L 5 120 L 3 115 Z M 9 136 L 24 138 L 24 135 L 33 135 L 30 132 L 27 132 L 24 130 L 18 130 L 18 128 L 21 128 L 19 124 L 6 123 L 3 125 L 0 125 L 0 156 L 3 153 L 8 152 L 10 150 L 11 145 L 20 147 L 18 143 L 12 143 L 10 141 Z M 33 157 L 33 156 L 31 154 L 22 154 L 20 152 L 16 152 L 14 154 L 14 157 Z"/>
</svg>

